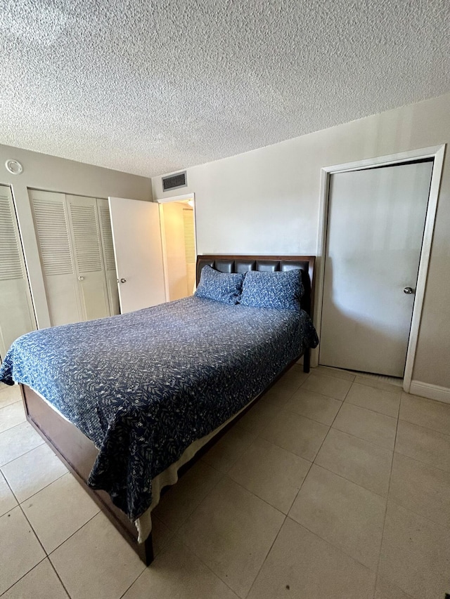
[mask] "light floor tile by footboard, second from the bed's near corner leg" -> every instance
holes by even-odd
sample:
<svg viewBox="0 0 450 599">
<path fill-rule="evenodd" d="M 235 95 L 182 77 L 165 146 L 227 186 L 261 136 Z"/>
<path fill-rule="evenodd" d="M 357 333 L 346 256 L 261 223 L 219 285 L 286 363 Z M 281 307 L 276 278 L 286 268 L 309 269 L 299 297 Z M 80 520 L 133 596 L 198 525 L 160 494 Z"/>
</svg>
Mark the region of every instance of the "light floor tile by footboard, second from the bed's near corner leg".
<svg viewBox="0 0 450 599">
<path fill-rule="evenodd" d="M 100 511 L 70 473 L 24 501 L 22 508 L 47 553 Z"/>
</svg>

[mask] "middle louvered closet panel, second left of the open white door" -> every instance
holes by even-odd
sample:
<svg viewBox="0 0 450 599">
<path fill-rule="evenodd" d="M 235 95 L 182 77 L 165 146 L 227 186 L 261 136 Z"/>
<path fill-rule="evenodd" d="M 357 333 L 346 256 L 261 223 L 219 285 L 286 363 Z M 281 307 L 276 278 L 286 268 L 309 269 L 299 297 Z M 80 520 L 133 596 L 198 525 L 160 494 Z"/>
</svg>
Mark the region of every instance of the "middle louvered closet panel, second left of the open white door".
<svg viewBox="0 0 450 599">
<path fill-rule="evenodd" d="M 82 320 L 110 315 L 97 202 L 93 197 L 66 195 L 72 225 Z"/>
</svg>

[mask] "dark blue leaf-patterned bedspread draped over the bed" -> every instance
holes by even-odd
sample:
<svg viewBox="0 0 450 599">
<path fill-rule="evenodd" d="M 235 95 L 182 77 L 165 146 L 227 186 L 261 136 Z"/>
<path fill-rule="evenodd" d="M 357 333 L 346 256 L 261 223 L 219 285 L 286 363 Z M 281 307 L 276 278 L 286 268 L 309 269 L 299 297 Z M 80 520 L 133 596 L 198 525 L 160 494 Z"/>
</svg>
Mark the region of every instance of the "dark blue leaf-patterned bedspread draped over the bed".
<svg viewBox="0 0 450 599">
<path fill-rule="evenodd" d="M 305 312 L 190 297 L 26 334 L 0 381 L 30 386 L 94 442 L 89 485 L 135 520 L 155 475 L 317 343 Z"/>
</svg>

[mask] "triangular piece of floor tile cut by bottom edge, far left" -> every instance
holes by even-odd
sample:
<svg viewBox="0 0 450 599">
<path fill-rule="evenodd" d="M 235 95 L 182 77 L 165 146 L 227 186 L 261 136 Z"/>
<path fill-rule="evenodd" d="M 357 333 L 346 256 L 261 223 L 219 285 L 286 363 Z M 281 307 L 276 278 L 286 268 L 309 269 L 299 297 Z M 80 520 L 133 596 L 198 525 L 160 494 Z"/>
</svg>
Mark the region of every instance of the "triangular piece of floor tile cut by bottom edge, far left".
<svg viewBox="0 0 450 599">
<path fill-rule="evenodd" d="M 1 599 L 68 599 L 48 559 L 34 566 Z"/>
</svg>

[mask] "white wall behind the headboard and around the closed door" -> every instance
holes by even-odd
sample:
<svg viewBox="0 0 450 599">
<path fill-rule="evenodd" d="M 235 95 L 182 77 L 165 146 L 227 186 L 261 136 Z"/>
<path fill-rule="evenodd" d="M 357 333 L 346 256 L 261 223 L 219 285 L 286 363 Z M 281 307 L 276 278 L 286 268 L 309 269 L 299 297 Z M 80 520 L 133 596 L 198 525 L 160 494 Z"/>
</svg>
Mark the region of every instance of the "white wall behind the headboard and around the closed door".
<svg viewBox="0 0 450 599">
<path fill-rule="evenodd" d="M 449 140 L 446 94 L 187 169 L 198 254 L 317 254 L 323 166 Z M 413 379 L 450 389 L 449 162 L 446 152 Z M 152 183 L 155 198 L 170 193 Z"/>
</svg>

